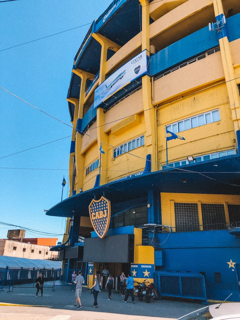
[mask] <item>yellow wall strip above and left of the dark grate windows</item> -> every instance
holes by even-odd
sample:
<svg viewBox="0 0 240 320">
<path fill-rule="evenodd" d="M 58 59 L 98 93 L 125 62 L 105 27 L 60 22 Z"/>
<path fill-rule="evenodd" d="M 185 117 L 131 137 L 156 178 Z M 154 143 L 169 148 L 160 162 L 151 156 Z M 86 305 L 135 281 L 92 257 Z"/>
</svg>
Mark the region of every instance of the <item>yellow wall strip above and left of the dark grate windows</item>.
<svg viewBox="0 0 240 320">
<path fill-rule="evenodd" d="M 174 202 L 179 203 L 201 203 L 207 204 L 240 204 L 237 195 L 210 195 L 194 193 L 165 193 L 161 192 L 162 224 L 175 227 Z M 175 231 L 173 229 L 172 231 Z"/>
</svg>

